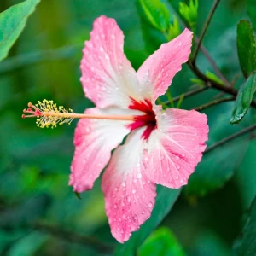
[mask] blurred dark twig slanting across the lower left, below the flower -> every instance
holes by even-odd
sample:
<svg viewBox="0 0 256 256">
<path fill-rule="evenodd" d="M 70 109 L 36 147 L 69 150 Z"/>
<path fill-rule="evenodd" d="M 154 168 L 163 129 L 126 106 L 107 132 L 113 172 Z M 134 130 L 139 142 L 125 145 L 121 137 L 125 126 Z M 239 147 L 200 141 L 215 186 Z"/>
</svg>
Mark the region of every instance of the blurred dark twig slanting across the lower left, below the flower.
<svg viewBox="0 0 256 256">
<path fill-rule="evenodd" d="M 37 230 L 41 230 L 43 232 L 47 232 L 52 236 L 56 236 L 61 238 L 62 240 L 79 243 L 80 245 L 84 245 L 87 247 L 92 247 L 98 252 L 102 253 L 113 253 L 113 247 L 97 240 L 94 237 L 90 236 L 82 236 L 78 233 L 73 233 L 72 231 L 64 230 L 62 227 L 58 227 L 52 224 L 44 224 L 44 223 L 36 223 L 33 226 Z"/>
</svg>

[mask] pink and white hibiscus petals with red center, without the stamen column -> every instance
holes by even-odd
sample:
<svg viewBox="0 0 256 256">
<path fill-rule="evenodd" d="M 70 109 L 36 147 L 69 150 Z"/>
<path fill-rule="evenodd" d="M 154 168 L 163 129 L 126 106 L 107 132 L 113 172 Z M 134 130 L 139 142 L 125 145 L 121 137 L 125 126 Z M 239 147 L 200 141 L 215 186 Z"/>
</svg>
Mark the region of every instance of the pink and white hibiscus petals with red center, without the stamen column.
<svg viewBox="0 0 256 256">
<path fill-rule="evenodd" d="M 79 193 L 91 189 L 108 164 L 102 190 L 111 232 L 119 242 L 150 217 L 155 184 L 172 189 L 186 184 L 206 148 L 205 114 L 174 108 L 163 113 L 154 103 L 188 61 L 191 40 L 192 32 L 185 29 L 162 44 L 137 73 L 124 55 L 124 35 L 115 20 L 97 18 L 85 42 L 81 82 L 96 108 L 84 113 L 135 120 L 80 119 L 69 184 Z"/>
</svg>

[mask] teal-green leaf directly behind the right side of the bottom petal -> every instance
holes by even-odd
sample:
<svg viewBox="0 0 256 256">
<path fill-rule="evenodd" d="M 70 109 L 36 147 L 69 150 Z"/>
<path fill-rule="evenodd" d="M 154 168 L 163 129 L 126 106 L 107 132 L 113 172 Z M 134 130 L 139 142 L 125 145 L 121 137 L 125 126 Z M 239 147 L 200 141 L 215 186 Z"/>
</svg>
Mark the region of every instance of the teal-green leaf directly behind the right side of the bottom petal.
<svg viewBox="0 0 256 256">
<path fill-rule="evenodd" d="M 180 193 L 180 189 L 168 189 L 162 186 L 159 186 L 157 191 L 158 193 L 151 217 L 141 226 L 140 230 L 131 235 L 129 241 L 126 241 L 123 245 L 117 247 L 114 255 L 134 255 L 137 247 L 143 243 L 150 232 L 154 230 L 154 228 L 160 224 L 162 219 L 166 217 L 166 214 L 170 212 Z"/>
</svg>

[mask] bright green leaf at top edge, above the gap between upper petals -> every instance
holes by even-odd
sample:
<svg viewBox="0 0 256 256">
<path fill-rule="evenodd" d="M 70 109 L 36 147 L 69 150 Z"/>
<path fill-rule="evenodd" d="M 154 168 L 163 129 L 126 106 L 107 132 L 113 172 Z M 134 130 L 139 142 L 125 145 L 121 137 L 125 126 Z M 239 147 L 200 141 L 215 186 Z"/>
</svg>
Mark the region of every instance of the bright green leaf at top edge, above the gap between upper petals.
<svg viewBox="0 0 256 256">
<path fill-rule="evenodd" d="M 139 2 L 150 23 L 161 32 L 166 32 L 170 22 L 170 14 L 166 5 L 160 0 L 139 0 Z"/>
</svg>

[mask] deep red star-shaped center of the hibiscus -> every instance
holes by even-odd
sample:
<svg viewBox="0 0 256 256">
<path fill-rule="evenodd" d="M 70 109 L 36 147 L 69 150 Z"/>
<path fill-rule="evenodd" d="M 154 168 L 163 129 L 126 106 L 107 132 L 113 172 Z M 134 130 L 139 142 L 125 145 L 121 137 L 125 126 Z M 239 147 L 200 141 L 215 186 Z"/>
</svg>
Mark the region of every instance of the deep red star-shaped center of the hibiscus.
<svg viewBox="0 0 256 256">
<path fill-rule="evenodd" d="M 150 133 L 157 128 L 155 114 L 153 110 L 153 106 L 150 100 L 145 99 L 143 102 L 137 102 L 133 98 L 131 98 L 130 109 L 139 110 L 144 112 L 143 115 L 134 116 L 134 122 L 131 125 L 127 125 L 131 131 L 146 126 L 145 131 L 143 131 L 143 139 L 148 139 Z"/>
</svg>

